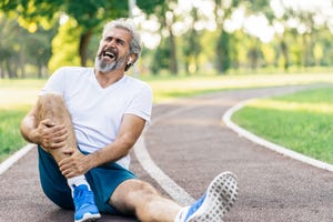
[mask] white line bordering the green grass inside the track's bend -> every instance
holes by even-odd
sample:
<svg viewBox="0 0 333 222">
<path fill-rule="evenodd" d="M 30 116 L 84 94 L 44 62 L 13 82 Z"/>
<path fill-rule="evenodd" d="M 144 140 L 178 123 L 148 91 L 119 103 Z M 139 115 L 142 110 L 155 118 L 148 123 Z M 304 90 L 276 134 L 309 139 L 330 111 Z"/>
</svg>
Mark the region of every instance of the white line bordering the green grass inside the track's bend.
<svg viewBox="0 0 333 222">
<path fill-rule="evenodd" d="M 251 99 L 251 100 L 253 100 L 253 99 Z M 266 141 L 266 140 L 264 140 L 262 138 L 259 138 L 255 134 L 253 134 L 253 133 L 244 130 L 243 128 L 240 128 L 234 122 L 232 122 L 231 121 L 231 115 L 235 111 L 242 109 L 251 100 L 242 101 L 242 102 L 238 103 L 236 105 L 232 107 L 231 109 L 229 109 L 224 113 L 222 120 L 226 124 L 226 127 L 229 127 L 230 129 L 232 129 L 233 131 L 235 131 L 236 133 L 239 133 L 241 137 L 244 137 L 244 138 L 251 140 L 252 142 L 258 143 L 258 144 L 260 144 L 260 145 L 262 145 L 264 148 L 273 150 L 273 151 L 275 151 L 278 153 L 281 153 L 281 154 L 286 155 L 289 158 L 292 158 L 294 160 L 299 160 L 299 161 L 304 162 L 306 164 L 310 164 L 310 165 L 313 165 L 313 167 L 316 167 L 316 168 L 324 169 L 324 170 L 333 172 L 333 165 L 332 164 L 329 164 L 329 163 L 315 160 L 313 158 L 309 158 L 309 157 L 303 155 L 301 153 L 294 152 L 294 151 L 292 151 L 290 149 L 286 149 L 286 148 L 283 148 L 281 145 L 278 145 L 278 144 L 274 144 L 272 142 L 269 142 L 269 141 Z"/>
</svg>

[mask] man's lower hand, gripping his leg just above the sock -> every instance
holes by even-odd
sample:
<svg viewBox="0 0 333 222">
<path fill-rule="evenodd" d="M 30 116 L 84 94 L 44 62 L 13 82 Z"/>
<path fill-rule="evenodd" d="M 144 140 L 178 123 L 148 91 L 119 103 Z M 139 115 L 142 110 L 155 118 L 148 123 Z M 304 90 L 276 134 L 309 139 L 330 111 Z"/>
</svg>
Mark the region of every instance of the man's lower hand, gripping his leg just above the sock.
<svg viewBox="0 0 333 222">
<path fill-rule="evenodd" d="M 89 155 L 82 154 L 78 149 L 69 150 L 69 158 L 60 161 L 59 169 L 65 178 L 73 178 L 87 173 L 91 168 L 89 165 Z"/>
</svg>

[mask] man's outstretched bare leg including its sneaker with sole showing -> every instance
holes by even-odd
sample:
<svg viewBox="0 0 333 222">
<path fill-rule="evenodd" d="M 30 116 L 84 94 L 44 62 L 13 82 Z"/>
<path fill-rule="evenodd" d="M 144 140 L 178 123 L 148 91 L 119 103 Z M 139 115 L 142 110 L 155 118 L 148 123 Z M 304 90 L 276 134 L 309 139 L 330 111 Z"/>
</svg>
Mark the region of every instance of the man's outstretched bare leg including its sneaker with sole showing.
<svg viewBox="0 0 333 222">
<path fill-rule="evenodd" d="M 110 203 L 124 213 L 135 214 L 140 221 L 163 222 L 221 222 L 238 196 L 236 176 L 223 172 L 212 180 L 201 199 L 182 208 L 139 180 L 120 184 Z"/>
</svg>

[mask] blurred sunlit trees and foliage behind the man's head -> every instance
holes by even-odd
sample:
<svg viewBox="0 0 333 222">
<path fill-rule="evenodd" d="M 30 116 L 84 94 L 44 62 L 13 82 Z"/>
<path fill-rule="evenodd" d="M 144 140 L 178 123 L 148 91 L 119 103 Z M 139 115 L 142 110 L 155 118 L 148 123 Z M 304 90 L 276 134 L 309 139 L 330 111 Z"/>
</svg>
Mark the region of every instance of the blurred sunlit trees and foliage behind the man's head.
<svg viewBox="0 0 333 222">
<path fill-rule="evenodd" d="M 93 65 L 107 21 L 142 33 L 140 74 L 330 70 L 332 0 L 2 0 L 0 77 Z"/>
</svg>

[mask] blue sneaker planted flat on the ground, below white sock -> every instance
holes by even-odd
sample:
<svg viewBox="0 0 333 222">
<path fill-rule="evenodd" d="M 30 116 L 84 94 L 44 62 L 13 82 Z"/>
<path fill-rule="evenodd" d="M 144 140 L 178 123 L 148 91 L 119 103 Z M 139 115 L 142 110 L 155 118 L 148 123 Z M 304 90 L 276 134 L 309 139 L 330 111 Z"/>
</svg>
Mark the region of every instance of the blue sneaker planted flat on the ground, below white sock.
<svg viewBox="0 0 333 222">
<path fill-rule="evenodd" d="M 95 221 L 101 218 L 94 203 L 94 195 L 87 185 L 73 186 L 73 201 L 75 205 L 75 222 Z"/>
</svg>

